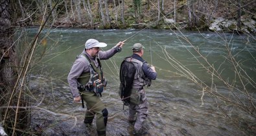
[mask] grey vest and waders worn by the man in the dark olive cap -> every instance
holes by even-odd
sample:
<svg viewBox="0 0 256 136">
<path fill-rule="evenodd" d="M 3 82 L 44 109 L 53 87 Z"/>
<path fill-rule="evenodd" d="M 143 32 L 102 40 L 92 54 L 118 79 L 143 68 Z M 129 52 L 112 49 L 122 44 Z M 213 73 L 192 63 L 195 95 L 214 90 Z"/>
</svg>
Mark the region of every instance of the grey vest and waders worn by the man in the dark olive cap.
<svg viewBox="0 0 256 136">
<path fill-rule="evenodd" d="M 130 58 L 128 58 L 129 60 Z M 126 59 L 127 60 L 127 59 Z M 131 58 L 130 61 L 134 63 L 136 72 L 134 75 L 134 82 L 132 84 L 132 90 L 129 103 L 129 122 L 134 123 L 134 134 L 141 135 L 143 132 L 143 122 L 148 116 L 148 103 L 146 99 L 146 92 L 144 86 L 150 86 L 151 80 L 146 77 L 143 72 L 143 64 L 146 62 L 139 61 L 138 59 Z"/>
</svg>

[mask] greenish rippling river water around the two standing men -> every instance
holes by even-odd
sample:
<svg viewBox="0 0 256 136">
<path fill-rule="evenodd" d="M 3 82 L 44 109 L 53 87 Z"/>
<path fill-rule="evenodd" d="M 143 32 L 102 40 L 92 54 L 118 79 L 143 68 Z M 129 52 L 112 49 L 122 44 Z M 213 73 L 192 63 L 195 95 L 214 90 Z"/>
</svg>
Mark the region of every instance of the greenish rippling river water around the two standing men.
<svg viewBox="0 0 256 136">
<path fill-rule="evenodd" d="M 30 28 L 26 32 L 28 37 L 34 37 L 37 29 Z M 231 53 L 255 83 L 255 37 L 251 39 L 248 35 L 170 30 L 139 32 L 63 28 L 43 31 L 34 55 L 36 59 L 32 61 L 34 67 L 30 69 L 29 81 L 33 94 L 31 105 L 35 106 L 32 109 L 34 130 L 43 131 L 45 135 L 95 135 L 95 121 L 91 128 L 84 126 L 86 108 L 82 108 L 82 104 L 73 103 L 67 84 L 67 74 L 76 55 L 84 50 L 84 43 L 89 38 L 107 43 L 108 46 L 102 50 L 108 50 L 119 41 L 129 38 L 121 53 L 102 61 L 104 75 L 108 79 L 108 86 L 102 95 L 102 101 L 109 112 L 107 135 L 132 135 L 132 124 L 127 121 L 128 107 L 125 106 L 123 110 L 118 88 L 121 61 L 132 54 L 134 43 L 142 43 L 145 46 L 143 58 L 156 66 L 157 71 L 156 81 L 152 81 L 152 86 L 146 88 L 149 102 L 149 114 L 145 125 L 147 135 L 246 135 L 239 129 L 242 127 L 237 128 L 228 117 L 240 117 L 239 119 L 249 121 L 251 119 L 255 122 L 244 112 L 234 111 L 232 108 L 225 109 L 229 111 L 229 116 L 224 114 L 222 108 L 216 106 L 218 100 L 207 93 L 202 97 L 203 88 L 187 78 L 191 77 L 189 73 L 182 73 L 185 70 L 179 70 L 188 68 L 200 81 L 211 86 L 213 78 L 196 61 L 198 59 L 202 64 L 208 62 L 215 66 L 224 81 L 233 82 L 237 88 L 241 88 L 239 78 L 228 59 Z M 205 59 L 200 57 L 199 53 Z M 42 54 L 44 55 L 41 58 Z M 218 92 L 231 95 L 222 81 L 216 80 L 214 84 Z M 253 85 L 255 86 L 247 86 L 255 102 Z"/>
</svg>

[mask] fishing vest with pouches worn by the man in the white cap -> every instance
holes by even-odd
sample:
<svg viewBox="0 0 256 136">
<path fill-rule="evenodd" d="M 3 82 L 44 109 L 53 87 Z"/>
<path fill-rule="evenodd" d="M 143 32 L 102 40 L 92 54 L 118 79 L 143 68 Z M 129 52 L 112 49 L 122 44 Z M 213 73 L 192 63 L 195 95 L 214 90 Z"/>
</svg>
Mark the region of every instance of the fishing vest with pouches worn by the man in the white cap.
<svg viewBox="0 0 256 136">
<path fill-rule="evenodd" d="M 78 87 L 80 87 L 78 89 L 89 92 L 93 91 L 101 97 L 101 93 L 103 92 L 104 87 L 106 87 L 107 81 L 106 78 L 103 77 L 103 71 L 99 58 L 96 59 L 96 61 L 99 63 L 99 67 L 97 68 L 97 66 L 91 62 L 86 54 L 82 53 L 78 55 L 78 57 L 84 57 L 84 59 L 86 59 L 86 63 L 89 64 L 89 72 L 82 73 L 77 79 Z"/>
</svg>

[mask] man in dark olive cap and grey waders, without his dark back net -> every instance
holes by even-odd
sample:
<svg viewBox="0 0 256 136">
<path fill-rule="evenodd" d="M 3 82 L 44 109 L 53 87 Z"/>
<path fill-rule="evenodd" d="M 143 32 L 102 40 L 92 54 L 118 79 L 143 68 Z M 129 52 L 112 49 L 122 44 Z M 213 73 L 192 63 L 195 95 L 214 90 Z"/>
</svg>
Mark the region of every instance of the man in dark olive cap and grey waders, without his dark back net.
<svg viewBox="0 0 256 136">
<path fill-rule="evenodd" d="M 149 66 L 142 58 L 144 46 L 141 43 L 135 43 L 132 46 L 132 56 L 126 57 L 126 61 L 134 64 L 136 70 L 129 103 L 129 122 L 135 122 L 134 134 L 145 133 L 143 122 L 148 115 L 148 103 L 144 86 L 150 86 L 151 80 L 155 80 L 157 73 L 154 66 Z M 137 113 L 137 116 L 136 116 Z"/>
</svg>

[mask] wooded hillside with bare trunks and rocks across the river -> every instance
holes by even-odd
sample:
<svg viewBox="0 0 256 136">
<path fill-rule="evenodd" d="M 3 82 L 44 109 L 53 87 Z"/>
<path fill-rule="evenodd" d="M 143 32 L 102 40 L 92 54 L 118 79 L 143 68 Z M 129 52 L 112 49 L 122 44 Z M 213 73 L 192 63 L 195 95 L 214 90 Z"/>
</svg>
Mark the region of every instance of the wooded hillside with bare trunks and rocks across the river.
<svg viewBox="0 0 256 136">
<path fill-rule="evenodd" d="M 253 0 L 34 0 L 13 3 L 19 26 L 163 28 L 255 32 Z M 52 9 L 54 5 L 56 8 Z M 51 12 L 52 10 L 52 12 Z"/>
</svg>

